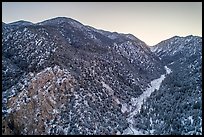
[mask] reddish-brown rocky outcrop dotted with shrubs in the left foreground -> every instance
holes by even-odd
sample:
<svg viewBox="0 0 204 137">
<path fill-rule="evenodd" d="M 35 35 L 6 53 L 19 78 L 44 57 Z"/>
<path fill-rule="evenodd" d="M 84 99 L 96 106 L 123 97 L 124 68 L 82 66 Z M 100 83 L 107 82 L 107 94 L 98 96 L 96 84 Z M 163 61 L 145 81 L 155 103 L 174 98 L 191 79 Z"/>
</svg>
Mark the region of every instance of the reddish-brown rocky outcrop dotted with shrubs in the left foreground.
<svg viewBox="0 0 204 137">
<path fill-rule="evenodd" d="M 8 134 L 9 129 L 11 134 L 47 134 L 52 122 L 59 120 L 76 84 L 69 72 L 59 66 L 38 74 L 29 73 L 28 77 L 28 87 L 8 100 L 11 112 L 3 123 L 13 128 L 7 127 L 4 134 Z"/>
</svg>

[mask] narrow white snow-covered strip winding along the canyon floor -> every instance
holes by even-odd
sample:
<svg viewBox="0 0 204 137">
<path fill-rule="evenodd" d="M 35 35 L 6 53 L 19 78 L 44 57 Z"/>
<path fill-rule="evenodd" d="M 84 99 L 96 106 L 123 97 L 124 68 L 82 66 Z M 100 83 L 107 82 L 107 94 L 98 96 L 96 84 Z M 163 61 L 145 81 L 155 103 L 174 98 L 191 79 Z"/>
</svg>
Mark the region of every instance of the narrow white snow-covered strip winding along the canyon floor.
<svg viewBox="0 0 204 137">
<path fill-rule="evenodd" d="M 166 75 L 170 74 L 172 71 L 167 66 L 165 66 Z M 142 95 L 138 98 L 132 98 L 131 104 L 135 108 L 133 111 L 130 109 L 131 113 L 128 115 L 127 121 L 129 123 L 129 127 L 123 131 L 124 135 L 131 134 L 131 135 L 141 135 L 144 134 L 143 132 L 135 129 L 133 127 L 134 119 L 133 117 L 140 112 L 142 104 L 146 101 L 148 97 L 154 92 L 155 90 L 159 90 L 162 81 L 165 79 L 165 75 L 161 75 L 160 78 L 151 81 L 150 87 L 148 87 Z M 128 109 L 126 109 L 128 110 Z"/>
</svg>

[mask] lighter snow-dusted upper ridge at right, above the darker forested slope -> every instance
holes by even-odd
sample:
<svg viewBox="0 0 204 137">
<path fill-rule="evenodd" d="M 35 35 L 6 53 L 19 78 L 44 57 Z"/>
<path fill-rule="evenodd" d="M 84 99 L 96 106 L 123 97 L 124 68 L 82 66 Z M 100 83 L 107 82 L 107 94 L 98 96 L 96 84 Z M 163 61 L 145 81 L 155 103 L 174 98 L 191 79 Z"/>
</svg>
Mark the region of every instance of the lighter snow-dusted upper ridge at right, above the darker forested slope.
<svg viewBox="0 0 204 137">
<path fill-rule="evenodd" d="M 169 64 L 183 58 L 201 58 L 201 45 L 202 38 L 199 36 L 175 36 L 151 47 L 151 51 L 158 55 L 163 63 Z"/>
</svg>

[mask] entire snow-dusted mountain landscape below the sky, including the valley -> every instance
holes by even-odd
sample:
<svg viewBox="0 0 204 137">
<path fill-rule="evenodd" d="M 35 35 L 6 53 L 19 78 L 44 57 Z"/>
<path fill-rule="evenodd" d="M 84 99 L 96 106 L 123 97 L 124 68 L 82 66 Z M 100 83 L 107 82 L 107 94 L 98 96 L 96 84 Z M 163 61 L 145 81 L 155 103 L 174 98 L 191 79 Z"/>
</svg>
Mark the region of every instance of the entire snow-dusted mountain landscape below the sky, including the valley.
<svg viewBox="0 0 204 137">
<path fill-rule="evenodd" d="M 201 45 L 149 47 L 66 17 L 2 22 L 2 134 L 202 134 Z"/>
</svg>

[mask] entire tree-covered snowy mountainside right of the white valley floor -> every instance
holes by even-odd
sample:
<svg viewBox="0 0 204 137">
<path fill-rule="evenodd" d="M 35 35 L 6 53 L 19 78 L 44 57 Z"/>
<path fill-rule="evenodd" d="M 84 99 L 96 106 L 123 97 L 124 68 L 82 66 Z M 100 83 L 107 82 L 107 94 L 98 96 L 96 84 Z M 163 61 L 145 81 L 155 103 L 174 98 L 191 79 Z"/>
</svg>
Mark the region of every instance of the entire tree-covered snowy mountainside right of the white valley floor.
<svg viewBox="0 0 204 137">
<path fill-rule="evenodd" d="M 173 37 L 153 47 L 171 73 L 135 116 L 134 127 L 140 132 L 202 134 L 201 49 L 202 38 L 197 36 Z"/>
</svg>

